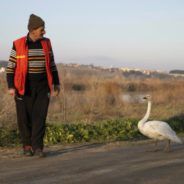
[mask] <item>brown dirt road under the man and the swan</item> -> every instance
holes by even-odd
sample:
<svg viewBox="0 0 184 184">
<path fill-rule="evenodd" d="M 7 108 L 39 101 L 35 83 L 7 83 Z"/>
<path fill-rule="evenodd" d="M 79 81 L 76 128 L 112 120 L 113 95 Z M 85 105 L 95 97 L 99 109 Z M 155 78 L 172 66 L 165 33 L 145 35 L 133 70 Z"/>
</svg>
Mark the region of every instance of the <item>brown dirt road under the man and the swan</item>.
<svg viewBox="0 0 184 184">
<path fill-rule="evenodd" d="M 152 147 L 152 141 L 57 145 L 42 159 L 1 148 L 0 184 L 183 184 L 184 146 L 147 152 Z"/>
</svg>

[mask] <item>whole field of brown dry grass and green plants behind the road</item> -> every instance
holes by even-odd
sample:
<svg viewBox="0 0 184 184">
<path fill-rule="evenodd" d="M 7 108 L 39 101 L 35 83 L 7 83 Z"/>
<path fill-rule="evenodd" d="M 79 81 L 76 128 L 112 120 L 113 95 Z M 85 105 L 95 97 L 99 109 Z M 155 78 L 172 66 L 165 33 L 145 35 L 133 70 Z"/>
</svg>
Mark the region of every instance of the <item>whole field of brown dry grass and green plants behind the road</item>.
<svg viewBox="0 0 184 184">
<path fill-rule="evenodd" d="M 58 65 L 61 93 L 52 96 L 47 116 L 45 144 L 104 142 L 142 139 L 137 122 L 152 96 L 150 119 L 165 120 L 184 130 L 184 80 L 150 77 L 91 66 Z M 141 77 L 140 77 L 141 76 Z M 0 146 L 20 144 L 13 97 L 0 76 Z"/>
</svg>

